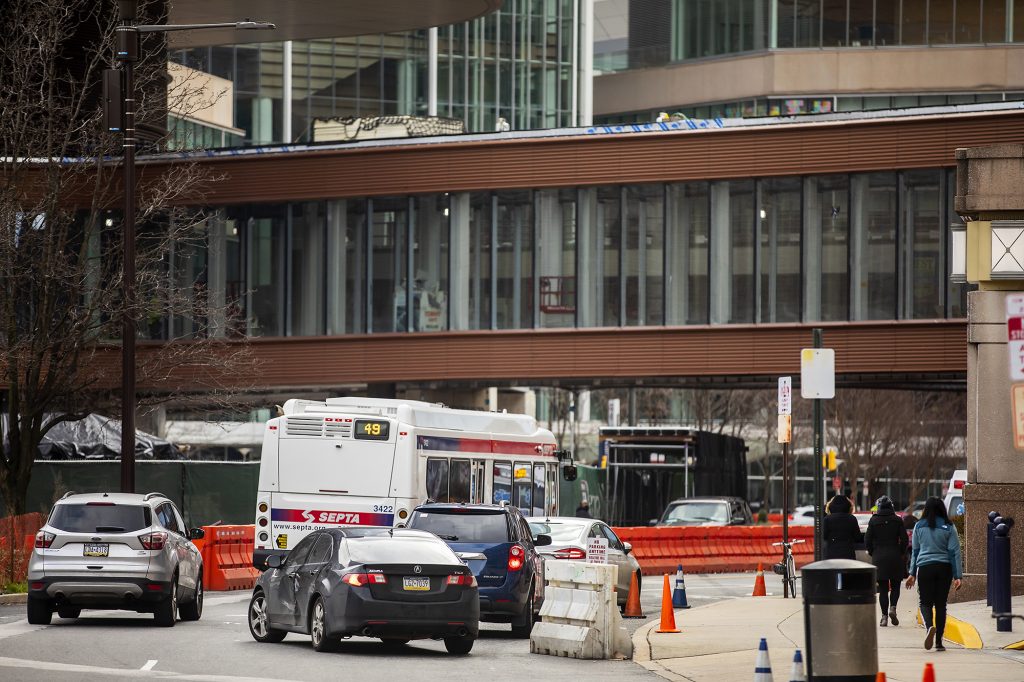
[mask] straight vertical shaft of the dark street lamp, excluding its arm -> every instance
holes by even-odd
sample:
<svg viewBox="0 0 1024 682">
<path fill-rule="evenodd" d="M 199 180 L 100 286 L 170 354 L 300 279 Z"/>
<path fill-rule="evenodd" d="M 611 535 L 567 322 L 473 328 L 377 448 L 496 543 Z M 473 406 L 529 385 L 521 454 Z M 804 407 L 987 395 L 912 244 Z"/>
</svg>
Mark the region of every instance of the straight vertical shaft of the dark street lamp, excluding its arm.
<svg viewBox="0 0 1024 682">
<path fill-rule="evenodd" d="M 124 96 L 124 300 L 121 327 L 121 492 L 135 492 L 135 79 L 138 30 L 135 2 L 122 0 L 121 26 L 117 28 L 117 60 L 121 63 Z"/>
</svg>

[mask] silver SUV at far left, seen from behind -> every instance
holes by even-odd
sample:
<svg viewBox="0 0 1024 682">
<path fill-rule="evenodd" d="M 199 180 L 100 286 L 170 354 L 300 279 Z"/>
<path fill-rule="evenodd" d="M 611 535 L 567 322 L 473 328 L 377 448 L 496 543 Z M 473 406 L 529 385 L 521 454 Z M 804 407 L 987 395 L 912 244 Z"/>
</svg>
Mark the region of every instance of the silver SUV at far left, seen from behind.
<svg viewBox="0 0 1024 682">
<path fill-rule="evenodd" d="M 186 535 L 187 532 L 187 535 Z M 203 614 L 203 558 L 174 503 L 159 493 L 63 496 L 38 534 L 29 561 L 29 623 L 48 625 L 56 609 L 152 612 L 170 627 Z"/>
</svg>

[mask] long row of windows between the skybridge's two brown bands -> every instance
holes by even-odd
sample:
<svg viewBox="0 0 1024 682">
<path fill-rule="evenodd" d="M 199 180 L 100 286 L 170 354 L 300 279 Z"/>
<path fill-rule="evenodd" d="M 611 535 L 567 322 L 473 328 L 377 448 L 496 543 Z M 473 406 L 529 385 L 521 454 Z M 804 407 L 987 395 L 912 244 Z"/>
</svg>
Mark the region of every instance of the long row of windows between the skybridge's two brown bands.
<svg viewBox="0 0 1024 682">
<path fill-rule="evenodd" d="M 951 169 L 211 209 L 174 337 L 963 317 Z M 202 324 L 200 324 L 202 323 Z M 156 328 L 155 328 L 156 329 Z"/>
</svg>

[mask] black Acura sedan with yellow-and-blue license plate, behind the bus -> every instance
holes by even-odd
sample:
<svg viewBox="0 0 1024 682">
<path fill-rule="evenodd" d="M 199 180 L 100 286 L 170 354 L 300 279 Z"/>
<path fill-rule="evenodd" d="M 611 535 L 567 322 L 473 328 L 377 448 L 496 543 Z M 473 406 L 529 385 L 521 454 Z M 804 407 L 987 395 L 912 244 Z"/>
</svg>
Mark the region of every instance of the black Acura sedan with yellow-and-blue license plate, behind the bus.
<svg viewBox="0 0 1024 682">
<path fill-rule="evenodd" d="M 249 631 L 257 642 L 280 642 L 294 632 L 327 651 L 356 635 L 379 637 L 385 646 L 429 638 L 463 654 L 479 634 L 476 579 L 429 532 L 317 530 L 267 565 L 249 602 Z"/>
</svg>

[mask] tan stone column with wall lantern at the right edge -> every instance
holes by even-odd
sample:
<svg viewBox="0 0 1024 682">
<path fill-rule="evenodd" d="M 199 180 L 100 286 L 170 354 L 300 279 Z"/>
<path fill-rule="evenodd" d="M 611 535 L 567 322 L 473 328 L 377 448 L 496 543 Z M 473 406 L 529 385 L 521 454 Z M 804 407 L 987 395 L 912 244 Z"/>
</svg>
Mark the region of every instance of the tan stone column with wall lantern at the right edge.
<svg viewBox="0 0 1024 682">
<path fill-rule="evenodd" d="M 990 228 L 984 221 L 1024 218 L 1024 144 L 956 151 L 956 212 L 968 222 L 968 484 L 965 589 L 957 600 L 983 599 L 988 512 L 1018 523 L 1011 531 L 1013 594 L 1024 594 L 1024 452 L 1015 447 L 1007 347 L 1006 298 L 1024 292 L 1024 281 L 992 280 L 988 241 L 972 241 Z"/>
</svg>

